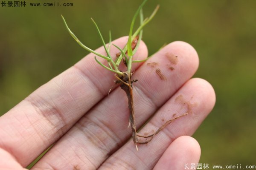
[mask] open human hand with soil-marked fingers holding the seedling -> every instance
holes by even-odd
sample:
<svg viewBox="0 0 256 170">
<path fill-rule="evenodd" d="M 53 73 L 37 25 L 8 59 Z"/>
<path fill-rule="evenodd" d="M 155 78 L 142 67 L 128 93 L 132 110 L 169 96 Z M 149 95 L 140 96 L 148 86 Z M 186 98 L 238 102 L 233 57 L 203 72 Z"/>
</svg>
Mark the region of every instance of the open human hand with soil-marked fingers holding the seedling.
<svg viewBox="0 0 256 170">
<path fill-rule="evenodd" d="M 113 43 L 123 47 L 127 40 Z M 104 53 L 102 47 L 97 51 Z M 111 47 L 111 56 L 118 52 Z M 147 53 L 141 42 L 134 58 Z M 138 144 L 138 151 L 129 139 L 125 92 L 113 86 L 113 73 L 93 57 L 88 54 L 0 117 L 0 169 L 24 169 L 52 144 L 33 170 L 183 170 L 185 163 L 198 163 L 200 146 L 189 136 L 212 110 L 215 93 L 205 80 L 191 79 L 198 68 L 195 49 L 172 42 L 145 63 L 134 63 L 137 127 L 155 113 L 140 134 L 188 113 L 148 144 Z"/>
</svg>

